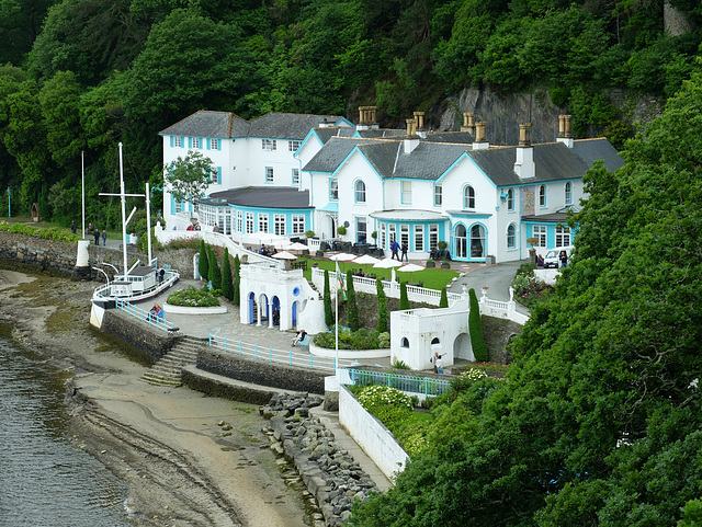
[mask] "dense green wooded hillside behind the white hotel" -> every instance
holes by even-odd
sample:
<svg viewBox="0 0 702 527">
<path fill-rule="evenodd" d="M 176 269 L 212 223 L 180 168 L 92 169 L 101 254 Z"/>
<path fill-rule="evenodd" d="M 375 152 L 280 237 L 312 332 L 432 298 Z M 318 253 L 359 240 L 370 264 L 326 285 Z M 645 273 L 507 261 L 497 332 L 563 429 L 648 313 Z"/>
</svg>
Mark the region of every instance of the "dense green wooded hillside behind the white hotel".
<svg viewBox="0 0 702 527">
<path fill-rule="evenodd" d="M 677 36 L 663 0 L 4 2 L 0 188 L 25 216 L 37 203 L 70 222 L 84 151 L 88 221 L 115 229 L 117 199 L 98 194 L 117 190 L 117 141 L 127 191 L 148 181 L 158 204 L 158 133 L 197 110 L 353 117 L 372 103 L 383 124 L 426 110 L 437 127 L 444 98 L 468 85 L 550 99 L 577 134 L 619 145 L 636 99 L 672 95 L 700 55 L 700 3 L 669 3 L 690 24 Z M 630 99 L 615 108 L 603 91 L 620 89 Z"/>
</svg>

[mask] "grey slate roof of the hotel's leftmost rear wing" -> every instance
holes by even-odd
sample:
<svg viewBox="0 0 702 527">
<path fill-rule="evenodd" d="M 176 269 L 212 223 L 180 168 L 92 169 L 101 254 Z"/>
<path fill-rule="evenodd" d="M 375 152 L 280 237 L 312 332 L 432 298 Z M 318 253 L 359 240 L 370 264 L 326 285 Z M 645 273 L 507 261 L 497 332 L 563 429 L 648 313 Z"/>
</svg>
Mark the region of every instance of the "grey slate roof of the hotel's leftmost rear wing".
<svg viewBox="0 0 702 527">
<path fill-rule="evenodd" d="M 261 137 L 271 139 L 303 140 L 309 130 L 327 119 L 338 123 L 336 115 L 270 113 L 253 121 L 246 121 L 231 112 L 201 110 L 174 125 L 161 130 L 163 136 L 192 137 Z M 349 128 L 352 130 L 352 128 Z"/>
</svg>

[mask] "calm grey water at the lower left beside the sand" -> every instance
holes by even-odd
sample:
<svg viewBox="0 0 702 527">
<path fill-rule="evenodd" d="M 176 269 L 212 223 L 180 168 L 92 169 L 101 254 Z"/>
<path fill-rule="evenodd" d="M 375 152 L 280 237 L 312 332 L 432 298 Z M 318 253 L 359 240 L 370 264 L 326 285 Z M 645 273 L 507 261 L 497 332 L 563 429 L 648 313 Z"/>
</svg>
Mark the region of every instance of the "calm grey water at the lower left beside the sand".
<svg viewBox="0 0 702 527">
<path fill-rule="evenodd" d="M 0 339 L 0 526 L 129 526 L 124 485 L 69 440 L 64 380 Z"/>
</svg>

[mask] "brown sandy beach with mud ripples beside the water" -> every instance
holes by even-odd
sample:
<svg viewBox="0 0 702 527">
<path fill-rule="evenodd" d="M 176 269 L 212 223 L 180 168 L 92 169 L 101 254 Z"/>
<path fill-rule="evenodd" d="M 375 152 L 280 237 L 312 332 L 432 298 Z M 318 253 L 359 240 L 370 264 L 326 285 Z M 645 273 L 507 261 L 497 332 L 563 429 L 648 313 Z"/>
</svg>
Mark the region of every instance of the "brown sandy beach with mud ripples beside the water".
<svg viewBox="0 0 702 527">
<path fill-rule="evenodd" d="M 146 367 L 90 326 L 93 287 L 0 270 L 0 322 L 73 373 L 71 440 L 125 482 L 134 524 L 307 525 L 302 493 L 281 478 L 258 408 L 143 382 Z"/>
</svg>

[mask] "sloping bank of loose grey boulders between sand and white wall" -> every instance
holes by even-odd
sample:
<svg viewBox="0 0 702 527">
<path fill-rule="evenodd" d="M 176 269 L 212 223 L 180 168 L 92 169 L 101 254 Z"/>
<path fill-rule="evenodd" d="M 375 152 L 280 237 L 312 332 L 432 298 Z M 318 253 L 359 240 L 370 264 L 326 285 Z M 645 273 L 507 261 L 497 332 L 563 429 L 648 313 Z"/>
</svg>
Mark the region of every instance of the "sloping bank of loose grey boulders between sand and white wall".
<svg viewBox="0 0 702 527">
<path fill-rule="evenodd" d="M 325 523 L 341 526 L 351 516 L 355 500 L 365 500 L 375 482 L 343 450 L 309 409 L 321 404 L 318 396 L 276 394 L 261 409 L 270 417 L 271 449 L 295 466 L 307 491 L 315 497 Z M 275 416 L 272 416 L 275 415 Z"/>
</svg>

